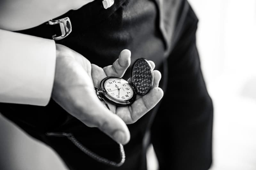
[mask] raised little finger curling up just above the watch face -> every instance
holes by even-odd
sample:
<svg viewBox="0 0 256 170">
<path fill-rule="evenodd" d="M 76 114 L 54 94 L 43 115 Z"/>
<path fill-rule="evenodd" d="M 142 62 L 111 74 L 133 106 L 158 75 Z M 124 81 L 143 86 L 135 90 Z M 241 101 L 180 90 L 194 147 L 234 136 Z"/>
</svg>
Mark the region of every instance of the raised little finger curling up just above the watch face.
<svg viewBox="0 0 256 170">
<path fill-rule="evenodd" d="M 120 54 L 118 59 L 113 63 L 113 65 L 104 67 L 103 70 L 105 71 L 107 76 L 114 76 L 114 77 L 123 77 L 126 69 L 131 64 L 131 51 L 130 50 L 123 50 Z"/>
</svg>

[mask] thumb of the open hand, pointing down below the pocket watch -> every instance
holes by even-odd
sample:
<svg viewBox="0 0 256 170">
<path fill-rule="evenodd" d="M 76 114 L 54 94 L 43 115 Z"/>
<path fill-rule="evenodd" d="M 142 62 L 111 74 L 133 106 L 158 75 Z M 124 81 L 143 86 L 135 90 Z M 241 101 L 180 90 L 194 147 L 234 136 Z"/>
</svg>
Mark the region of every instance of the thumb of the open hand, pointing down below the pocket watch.
<svg viewBox="0 0 256 170">
<path fill-rule="evenodd" d="M 77 118 L 89 127 L 98 127 L 116 142 L 126 144 L 130 140 L 130 132 L 124 121 L 100 102 L 94 90 L 87 90 L 84 98 L 76 103 L 76 107 L 82 110 L 80 114 L 76 114 Z"/>
</svg>

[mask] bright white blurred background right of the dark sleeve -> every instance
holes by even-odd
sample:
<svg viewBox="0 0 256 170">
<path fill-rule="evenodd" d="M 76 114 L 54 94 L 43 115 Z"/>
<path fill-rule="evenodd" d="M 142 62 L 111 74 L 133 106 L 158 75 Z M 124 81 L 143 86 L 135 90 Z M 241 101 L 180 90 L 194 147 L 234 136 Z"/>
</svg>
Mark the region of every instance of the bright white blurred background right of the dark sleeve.
<svg viewBox="0 0 256 170">
<path fill-rule="evenodd" d="M 256 1 L 190 0 L 214 104 L 211 170 L 256 169 Z"/>
</svg>

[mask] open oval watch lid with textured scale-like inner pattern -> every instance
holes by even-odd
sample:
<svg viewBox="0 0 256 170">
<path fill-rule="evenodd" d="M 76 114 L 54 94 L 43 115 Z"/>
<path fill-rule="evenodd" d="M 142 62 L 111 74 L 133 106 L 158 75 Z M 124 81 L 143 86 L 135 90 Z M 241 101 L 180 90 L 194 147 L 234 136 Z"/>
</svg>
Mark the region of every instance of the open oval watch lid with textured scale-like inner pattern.
<svg viewBox="0 0 256 170">
<path fill-rule="evenodd" d="M 145 95 L 153 85 L 153 69 L 144 58 L 137 59 L 131 70 L 131 83 L 138 95 Z"/>
</svg>

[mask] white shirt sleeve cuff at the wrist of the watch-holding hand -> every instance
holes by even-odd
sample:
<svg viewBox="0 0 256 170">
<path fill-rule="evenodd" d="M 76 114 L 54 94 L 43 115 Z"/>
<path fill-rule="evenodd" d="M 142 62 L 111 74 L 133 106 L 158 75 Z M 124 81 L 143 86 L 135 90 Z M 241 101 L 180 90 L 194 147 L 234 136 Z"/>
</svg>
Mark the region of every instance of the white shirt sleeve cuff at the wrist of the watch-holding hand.
<svg viewBox="0 0 256 170">
<path fill-rule="evenodd" d="M 0 30 L 0 102 L 47 105 L 55 62 L 53 40 Z"/>
</svg>

